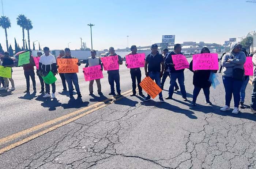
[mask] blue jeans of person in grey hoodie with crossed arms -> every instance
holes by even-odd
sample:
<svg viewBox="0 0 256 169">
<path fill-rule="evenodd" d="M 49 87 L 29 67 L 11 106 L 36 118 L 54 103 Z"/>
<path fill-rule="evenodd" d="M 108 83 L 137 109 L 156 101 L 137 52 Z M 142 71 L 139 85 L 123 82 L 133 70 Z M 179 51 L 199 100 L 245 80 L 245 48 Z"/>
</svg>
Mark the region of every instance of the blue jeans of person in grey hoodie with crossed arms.
<svg viewBox="0 0 256 169">
<path fill-rule="evenodd" d="M 234 80 L 232 77 L 222 76 L 223 84 L 225 87 L 225 100 L 226 105 L 230 106 L 230 102 L 232 99 L 232 94 L 234 96 L 234 107 L 239 106 L 240 102 L 240 89 L 242 87 L 243 81 Z"/>
</svg>

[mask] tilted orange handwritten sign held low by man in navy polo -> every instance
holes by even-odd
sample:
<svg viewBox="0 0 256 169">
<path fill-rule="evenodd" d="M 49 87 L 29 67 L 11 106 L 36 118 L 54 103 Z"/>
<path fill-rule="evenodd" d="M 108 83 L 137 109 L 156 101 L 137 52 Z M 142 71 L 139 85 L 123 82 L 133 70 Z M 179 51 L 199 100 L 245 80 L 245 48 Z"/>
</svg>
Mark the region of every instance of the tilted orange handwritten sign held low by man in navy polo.
<svg viewBox="0 0 256 169">
<path fill-rule="evenodd" d="M 147 92 L 153 99 L 162 91 L 162 89 L 155 83 L 149 76 L 146 76 L 140 86 Z"/>
</svg>

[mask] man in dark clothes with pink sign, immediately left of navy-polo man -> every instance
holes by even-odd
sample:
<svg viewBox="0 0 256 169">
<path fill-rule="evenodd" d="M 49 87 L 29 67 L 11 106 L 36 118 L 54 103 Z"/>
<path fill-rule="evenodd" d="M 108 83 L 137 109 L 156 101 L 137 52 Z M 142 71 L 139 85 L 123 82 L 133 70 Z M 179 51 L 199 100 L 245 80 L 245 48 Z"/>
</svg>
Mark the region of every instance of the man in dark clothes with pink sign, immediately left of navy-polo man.
<svg viewBox="0 0 256 169">
<path fill-rule="evenodd" d="M 132 52 L 130 52 L 128 55 L 138 54 L 136 45 L 131 46 L 131 51 Z M 127 64 L 125 64 L 125 66 L 127 66 Z M 141 82 L 140 68 L 139 67 L 138 68 L 130 68 L 130 74 L 131 74 L 131 78 L 132 78 L 132 94 L 130 96 L 136 96 L 136 79 L 137 79 L 139 95 L 141 97 L 144 97 L 144 95 L 142 93 L 142 87 L 140 86 L 140 82 Z"/>
</svg>

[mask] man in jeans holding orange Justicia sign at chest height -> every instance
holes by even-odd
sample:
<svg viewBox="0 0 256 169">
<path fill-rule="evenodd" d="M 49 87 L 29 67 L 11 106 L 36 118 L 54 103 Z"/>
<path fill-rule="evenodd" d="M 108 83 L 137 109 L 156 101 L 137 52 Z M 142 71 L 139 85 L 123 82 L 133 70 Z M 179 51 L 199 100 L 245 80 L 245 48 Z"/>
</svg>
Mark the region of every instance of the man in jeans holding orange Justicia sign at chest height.
<svg viewBox="0 0 256 169">
<path fill-rule="evenodd" d="M 75 85 L 75 89 L 76 89 L 76 93 L 78 95 L 78 97 L 82 97 L 81 93 L 80 93 L 80 89 L 79 89 L 79 84 L 78 84 L 78 76 L 76 74 L 76 67 L 77 67 L 77 71 L 78 71 L 78 66 L 81 65 L 81 63 L 77 61 L 73 61 L 72 59 L 76 59 L 74 56 L 71 56 L 71 52 L 69 48 L 65 48 L 65 56 L 63 56 L 61 59 L 67 59 L 68 60 L 68 64 L 67 67 L 71 67 L 71 68 L 64 68 L 63 71 L 65 79 L 67 80 L 68 83 L 68 91 L 69 91 L 69 97 L 73 98 L 73 83 Z M 76 62 L 76 63 L 74 63 Z M 58 64 L 59 69 L 61 68 L 60 64 Z M 73 71 L 74 68 L 74 71 Z"/>
</svg>

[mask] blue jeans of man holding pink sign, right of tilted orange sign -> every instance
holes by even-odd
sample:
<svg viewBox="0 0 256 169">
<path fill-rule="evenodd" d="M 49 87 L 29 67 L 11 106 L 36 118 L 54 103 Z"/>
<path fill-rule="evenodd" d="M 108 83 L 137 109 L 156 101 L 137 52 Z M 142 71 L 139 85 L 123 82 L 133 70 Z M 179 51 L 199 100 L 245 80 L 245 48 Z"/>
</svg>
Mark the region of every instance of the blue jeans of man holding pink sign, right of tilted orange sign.
<svg viewBox="0 0 256 169">
<path fill-rule="evenodd" d="M 178 72 L 178 73 L 170 73 L 170 86 L 169 86 L 169 97 L 173 97 L 173 90 L 176 83 L 176 80 L 178 79 L 178 83 L 180 84 L 180 91 L 183 98 L 187 98 L 187 92 L 185 89 L 184 84 L 184 72 Z"/>
</svg>

